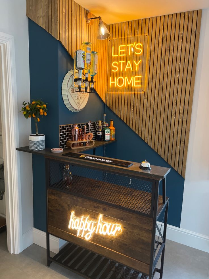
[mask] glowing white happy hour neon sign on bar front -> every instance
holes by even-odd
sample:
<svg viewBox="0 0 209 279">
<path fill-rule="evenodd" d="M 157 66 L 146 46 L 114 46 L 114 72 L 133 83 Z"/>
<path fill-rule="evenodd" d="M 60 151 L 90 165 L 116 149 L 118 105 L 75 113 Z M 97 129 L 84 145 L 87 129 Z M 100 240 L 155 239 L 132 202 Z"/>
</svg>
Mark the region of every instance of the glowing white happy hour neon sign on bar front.
<svg viewBox="0 0 209 279">
<path fill-rule="evenodd" d="M 121 225 L 105 222 L 103 214 L 99 214 L 97 221 L 93 221 L 87 216 L 76 217 L 74 211 L 70 214 L 68 228 L 77 230 L 76 235 L 86 240 L 91 239 L 94 233 L 109 236 L 117 236 L 119 233 L 122 233 Z"/>
</svg>

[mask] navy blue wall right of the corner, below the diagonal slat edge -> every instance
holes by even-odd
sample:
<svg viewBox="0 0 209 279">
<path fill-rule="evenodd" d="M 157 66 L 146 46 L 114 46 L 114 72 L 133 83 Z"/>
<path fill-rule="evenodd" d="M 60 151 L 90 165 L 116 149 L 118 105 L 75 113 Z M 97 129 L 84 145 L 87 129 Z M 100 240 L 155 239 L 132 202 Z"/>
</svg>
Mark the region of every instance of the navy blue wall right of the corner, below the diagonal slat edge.
<svg viewBox="0 0 209 279">
<path fill-rule="evenodd" d="M 105 113 L 107 115 L 107 121 L 114 119 L 116 139 L 118 140 L 117 144 L 110 144 L 106 149 L 107 157 L 133 162 L 141 162 L 146 159 L 151 165 L 171 168 L 166 178 L 166 195 L 170 197 L 168 224 L 180 227 L 184 178 L 106 105 Z M 162 189 L 162 187 L 160 187 L 160 189 Z"/>
</svg>

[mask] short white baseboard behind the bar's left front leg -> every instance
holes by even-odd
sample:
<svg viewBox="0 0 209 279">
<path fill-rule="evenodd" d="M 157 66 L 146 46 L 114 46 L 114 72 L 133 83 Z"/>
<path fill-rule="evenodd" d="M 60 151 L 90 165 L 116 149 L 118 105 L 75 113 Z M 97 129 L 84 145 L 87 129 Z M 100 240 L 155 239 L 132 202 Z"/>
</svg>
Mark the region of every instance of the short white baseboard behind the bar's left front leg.
<svg viewBox="0 0 209 279">
<path fill-rule="evenodd" d="M 33 228 L 33 243 L 43 248 L 46 248 L 46 239 L 47 237 L 45 232 Z M 50 235 L 49 241 L 50 241 L 50 251 L 56 254 L 66 244 L 66 241 L 64 241 L 63 239 L 59 239 L 58 237 L 55 237 L 53 235 Z"/>
</svg>

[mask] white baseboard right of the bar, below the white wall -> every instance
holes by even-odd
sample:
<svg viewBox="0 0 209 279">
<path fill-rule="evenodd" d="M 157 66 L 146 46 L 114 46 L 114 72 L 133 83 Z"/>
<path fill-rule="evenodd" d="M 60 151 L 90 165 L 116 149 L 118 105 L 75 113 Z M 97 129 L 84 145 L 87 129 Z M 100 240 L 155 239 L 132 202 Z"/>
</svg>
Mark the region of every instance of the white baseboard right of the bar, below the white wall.
<svg viewBox="0 0 209 279">
<path fill-rule="evenodd" d="M 157 222 L 160 227 L 160 222 Z M 164 224 L 162 225 L 163 231 Z M 182 228 L 167 225 L 166 239 L 209 253 L 209 237 Z"/>
</svg>

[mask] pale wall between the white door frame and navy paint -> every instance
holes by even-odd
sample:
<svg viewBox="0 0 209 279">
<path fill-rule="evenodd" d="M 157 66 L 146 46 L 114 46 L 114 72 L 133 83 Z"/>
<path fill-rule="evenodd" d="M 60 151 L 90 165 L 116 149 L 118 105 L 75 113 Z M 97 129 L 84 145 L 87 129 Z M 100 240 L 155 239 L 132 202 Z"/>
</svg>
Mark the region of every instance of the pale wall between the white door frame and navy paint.
<svg viewBox="0 0 209 279">
<path fill-rule="evenodd" d="M 18 111 L 23 101 L 30 101 L 28 18 L 25 0 L 0 0 L 0 31 L 14 36 Z M 9 105 L 9 104 L 8 104 Z M 20 146 L 28 145 L 30 121 L 20 113 L 18 117 Z M 18 146 L 17 146 L 18 147 Z M 22 198 L 22 233 L 33 228 L 32 156 L 20 152 Z M 23 244 L 24 245 L 24 244 Z"/>
</svg>

